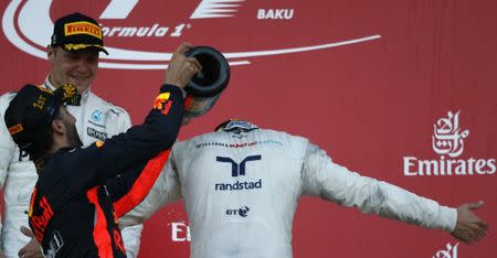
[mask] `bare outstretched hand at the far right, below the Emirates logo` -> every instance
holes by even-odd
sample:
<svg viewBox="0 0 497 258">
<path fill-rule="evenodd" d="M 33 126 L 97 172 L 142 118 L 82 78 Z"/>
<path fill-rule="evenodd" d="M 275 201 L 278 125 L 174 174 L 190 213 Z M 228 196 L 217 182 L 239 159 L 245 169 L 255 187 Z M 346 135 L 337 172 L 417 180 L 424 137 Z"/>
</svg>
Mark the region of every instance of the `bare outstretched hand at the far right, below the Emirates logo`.
<svg viewBox="0 0 497 258">
<path fill-rule="evenodd" d="M 472 212 L 483 205 L 484 202 L 479 201 L 477 203 L 466 203 L 457 207 L 456 227 L 451 233 L 453 237 L 466 244 L 473 244 L 486 236 L 488 224 Z"/>
</svg>

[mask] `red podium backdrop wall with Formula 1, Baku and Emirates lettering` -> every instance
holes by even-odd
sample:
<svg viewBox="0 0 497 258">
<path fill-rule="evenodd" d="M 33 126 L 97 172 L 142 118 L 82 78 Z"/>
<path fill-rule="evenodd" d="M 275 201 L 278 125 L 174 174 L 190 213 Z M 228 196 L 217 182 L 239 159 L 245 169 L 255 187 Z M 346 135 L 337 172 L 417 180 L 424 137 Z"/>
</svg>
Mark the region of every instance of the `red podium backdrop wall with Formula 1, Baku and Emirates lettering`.
<svg viewBox="0 0 497 258">
<path fill-rule="evenodd" d="M 465 245 L 304 197 L 295 257 L 496 257 L 497 2 L 491 0 L 1 1 L 1 93 L 42 83 L 53 21 L 102 22 L 92 90 L 141 122 L 179 43 L 225 54 L 232 78 L 188 139 L 228 118 L 308 137 L 339 164 L 455 206 L 485 201 Z M 182 203 L 145 224 L 140 257 L 188 257 Z M 491 227 L 494 226 L 494 227 Z M 212 232 L 212 234 L 216 234 Z"/>
</svg>

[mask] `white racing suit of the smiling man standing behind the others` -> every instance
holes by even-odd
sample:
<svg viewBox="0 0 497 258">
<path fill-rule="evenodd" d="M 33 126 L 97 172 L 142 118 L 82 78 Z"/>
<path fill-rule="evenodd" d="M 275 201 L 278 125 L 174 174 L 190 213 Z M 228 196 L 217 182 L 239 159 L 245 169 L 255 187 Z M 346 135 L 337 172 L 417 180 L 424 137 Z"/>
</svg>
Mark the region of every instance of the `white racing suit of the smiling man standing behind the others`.
<svg viewBox="0 0 497 258">
<path fill-rule="evenodd" d="M 44 87 L 55 89 L 46 79 Z M 6 127 L 3 114 L 14 93 L 7 93 L 0 97 L 0 186 L 3 187 L 4 224 L 1 228 L 1 247 L 7 257 L 18 257 L 19 250 L 30 240 L 20 228 L 28 226 L 28 209 L 31 192 L 36 183 L 34 164 L 25 153 L 20 153 Z M 86 90 L 81 106 L 67 106 L 68 111 L 76 118 L 77 133 L 83 144 L 118 135 L 126 131 L 131 121 L 129 115 L 121 108 Z M 140 246 L 142 225 L 136 225 L 123 230 L 123 240 L 128 257 L 137 257 Z"/>
</svg>

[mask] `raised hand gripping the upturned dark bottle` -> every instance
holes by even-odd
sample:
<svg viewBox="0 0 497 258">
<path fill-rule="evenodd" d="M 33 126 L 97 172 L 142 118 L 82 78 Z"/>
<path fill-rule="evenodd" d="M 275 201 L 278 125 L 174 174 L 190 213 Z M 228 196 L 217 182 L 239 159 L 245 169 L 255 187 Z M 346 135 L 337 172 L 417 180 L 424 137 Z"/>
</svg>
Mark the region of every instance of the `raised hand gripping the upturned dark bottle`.
<svg viewBox="0 0 497 258">
<path fill-rule="evenodd" d="M 189 43 L 182 43 L 172 54 L 165 79 L 166 84 L 183 88 L 188 85 L 191 77 L 202 69 L 197 58 L 184 55 L 190 49 L 191 45 Z"/>
</svg>

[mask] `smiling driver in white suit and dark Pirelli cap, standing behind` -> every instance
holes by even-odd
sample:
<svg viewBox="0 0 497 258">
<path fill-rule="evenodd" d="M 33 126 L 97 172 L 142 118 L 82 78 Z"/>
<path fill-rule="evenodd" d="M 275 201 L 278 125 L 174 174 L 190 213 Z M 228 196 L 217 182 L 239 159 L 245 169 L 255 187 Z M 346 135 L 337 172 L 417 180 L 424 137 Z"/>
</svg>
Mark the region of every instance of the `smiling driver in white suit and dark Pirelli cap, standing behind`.
<svg viewBox="0 0 497 258">
<path fill-rule="evenodd" d="M 81 99 L 67 106 L 67 110 L 76 118 L 77 133 L 83 144 L 91 144 L 97 140 L 105 140 L 114 135 L 125 132 L 130 126 L 129 115 L 123 109 L 107 103 L 91 92 L 89 85 L 96 77 L 98 69 L 98 52 L 104 51 L 102 39 L 89 34 L 63 35 L 59 29 L 71 23 L 98 23 L 81 13 L 73 13 L 59 19 L 54 25 L 57 42 L 52 42 L 47 49 L 51 71 L 42 87 L 54 90 L 66 83 L 77 87 Z M 95 26 L 95 29 L 97 29 Z M 54 41 L 55 36 L 52 36 Z M 64 45 L 81 44 L 76 51 L 67 51 Z M 95 45 L 99 46 L 96 47 Z M 19 87 L 19 85 L 17 85 Z M 20 228 L 28 227 L 28 209 L 31 193 L 38 174 L 28 154 L 20 153 L 13 142 L 3 120 L 3 114 L 15 93 L 7 93 L 0 97 L 0 186 L 3 187 L 4 224 L 1 228 L 1 247 L 6 257 L 24 257 L 40 254 L 35 239 L 24 236 Z M 128 257 L 137 257 L 140 246 L 142 225 L 123 230 L 123 241 Z M 28 228 L 27 228 L 28 229 Z M 30 241 L 32 240 L 32 241 Z M 33 243 L 34 252 L 21 251 L 28 243 Z M 19 252 L 19 254 L 18 254 Z M 1 251 L 0 251 L 1 257 Z M 33 255 L 33 257 L 36 257 Z"/>
</svg>

